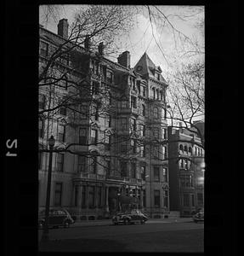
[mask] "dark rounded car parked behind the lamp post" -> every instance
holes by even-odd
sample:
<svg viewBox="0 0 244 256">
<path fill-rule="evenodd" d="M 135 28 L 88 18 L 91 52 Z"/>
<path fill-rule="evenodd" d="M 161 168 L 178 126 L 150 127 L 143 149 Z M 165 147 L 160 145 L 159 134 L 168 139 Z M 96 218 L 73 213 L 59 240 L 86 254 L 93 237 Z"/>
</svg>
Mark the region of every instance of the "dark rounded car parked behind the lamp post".
<svg viewBox="0 0 244 256">
<path fill-rule="evenodd" d="M 45 223 L 45 210 L 39 213 L 38 226 L 43 228 Z M 64 208 L 53 208 L 49 210 L 48 227 L 63 226 L 68 228 L 70 224 L 74 224 L 75 221 L 71 218 L 71 214 Z"/>
</svg>

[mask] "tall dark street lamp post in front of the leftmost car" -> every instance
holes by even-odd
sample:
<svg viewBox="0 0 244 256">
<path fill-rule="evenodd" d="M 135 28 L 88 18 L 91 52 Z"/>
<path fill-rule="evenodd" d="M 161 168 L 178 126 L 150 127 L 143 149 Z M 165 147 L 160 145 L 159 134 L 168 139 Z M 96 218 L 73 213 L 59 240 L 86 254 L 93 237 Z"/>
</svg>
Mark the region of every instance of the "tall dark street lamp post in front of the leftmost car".
<svg viewBox="0 0 244 256">
<path fill-rule="evenodd" d="M 48 215 L 50 207 L 50 192 L 51 192 L 51 178 L 52 178 L 52 162 L 53 162 L 53 150 L 54 150 L 55 139 L 51 136 L 48 139 L 49 145 L 49 164 L 48 164 L 48 186 L 47 186 L 47 195 L 46 195 L 46 207 L 45 207 L 45 223 L 43 226 L 43 236 L 42 241 L 49 240 L 49 231 L 48 231 Z"/>
</svg>

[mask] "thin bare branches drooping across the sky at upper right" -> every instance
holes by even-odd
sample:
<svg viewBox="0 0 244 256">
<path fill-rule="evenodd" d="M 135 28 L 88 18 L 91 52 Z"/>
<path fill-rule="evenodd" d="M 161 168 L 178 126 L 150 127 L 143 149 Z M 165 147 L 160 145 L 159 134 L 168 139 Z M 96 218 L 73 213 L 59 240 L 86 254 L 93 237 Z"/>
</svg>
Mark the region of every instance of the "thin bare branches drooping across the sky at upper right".
<svg viewBox="0 0 244 256">
<path fill-rule="evenodd" d="M 165 32 L 168 37 L 173 38 L 173 55 L 178 55 L 178 57 L 189 58 L 190 56 L 204 55 L 204 8 L 201 6 L 181 6 L 177 7 L 166 7 L 166 6 L 156 6 L 156 5 L 146 5 L 142 9 L 147 9 L 148 17 L 150 19 L 150 25 L 152 30 L 153 38 L 156 42 L 158 49 L 161 51 L 163 58 L 169 66 L 172 66 L 169 59 L 172 58 L 172 52 L 170 55 L 167 53 L 167 49 L 163 47 L 162 39 L 156 38 L 156 32 Z M 181 9 L 181 11 L 180 11 Z M 178 28 L 176 25 L 188 24 L 192 19 L 196 19 L 195 27 L 201 32 L 201 39 L 196 37 L 190 37 Z M 155 25 L 155 26 L 153 26 Z M 154 28 L 156 27 L 156 28 Z"/>
</svg>

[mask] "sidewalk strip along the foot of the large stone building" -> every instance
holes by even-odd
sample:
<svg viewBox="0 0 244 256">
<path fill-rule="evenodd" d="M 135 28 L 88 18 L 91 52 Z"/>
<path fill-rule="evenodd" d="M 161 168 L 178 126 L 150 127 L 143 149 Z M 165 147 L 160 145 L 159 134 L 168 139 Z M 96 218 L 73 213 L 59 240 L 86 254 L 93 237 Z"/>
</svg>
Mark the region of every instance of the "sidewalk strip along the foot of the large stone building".
<svg viewBox="0 0 244 256">
<path fill-rule="evenodd" d="M 192 222 L 192 218 L 150 218 L 146 224 L 159 224 L 159 223 L 184 223 Z M 71 227 L 81 227 L 81 226 L 107 226 L 111 225 L 111 219 L 102 219 L 102 220 L 86 220 L 76 222 L 71 225 Z"/>
</svg>

